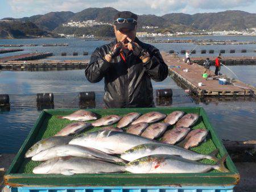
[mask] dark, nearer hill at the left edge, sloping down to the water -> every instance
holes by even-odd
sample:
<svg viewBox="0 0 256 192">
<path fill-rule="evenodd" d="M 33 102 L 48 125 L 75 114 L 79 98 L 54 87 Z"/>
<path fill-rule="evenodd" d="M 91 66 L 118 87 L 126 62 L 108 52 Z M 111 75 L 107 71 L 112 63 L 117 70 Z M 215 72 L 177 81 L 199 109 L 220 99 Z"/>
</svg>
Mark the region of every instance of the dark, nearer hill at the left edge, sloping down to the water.
<svg viewBox="0 0 256 192">
<path fill-rule="evenodd" d="M 0 20 L 0 38 L 14 39 L 26 37 L 53 37 L 53 35 L 41 30 L 32 22 Z"/>
</svg>

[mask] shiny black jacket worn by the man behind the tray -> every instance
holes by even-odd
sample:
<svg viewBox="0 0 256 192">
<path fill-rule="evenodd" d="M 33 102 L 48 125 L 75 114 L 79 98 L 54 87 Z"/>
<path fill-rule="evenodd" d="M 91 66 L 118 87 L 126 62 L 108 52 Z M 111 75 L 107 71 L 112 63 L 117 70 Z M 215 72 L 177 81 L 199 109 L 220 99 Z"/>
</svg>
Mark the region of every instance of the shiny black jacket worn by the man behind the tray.
<svg viewBox="0 0 256 192">
<path fill-rule="evenodd" d="M 143 64 L 141 59 L 130 51 L 126 61 L 117 56 L 108 62 L 104 59 L 110 49 L 117 43 L 102 45 L 92 53 L 90 62 L 85 68 L 88 81 L 95 83 L 104 78 L 106 107 L 152 107 L 153 89 L 151 79 L 163 81 L 168 75 L 168 67 L 158 49 L 150 44 L 135 39 L 150 54 L 150 60 Z"/>
</svg>

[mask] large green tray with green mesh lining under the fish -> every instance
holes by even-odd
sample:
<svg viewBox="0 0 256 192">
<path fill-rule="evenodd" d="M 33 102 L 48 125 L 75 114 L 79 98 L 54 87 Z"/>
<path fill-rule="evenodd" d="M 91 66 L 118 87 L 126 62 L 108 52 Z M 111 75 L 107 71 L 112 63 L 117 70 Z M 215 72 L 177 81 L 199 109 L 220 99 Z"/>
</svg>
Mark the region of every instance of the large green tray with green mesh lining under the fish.
<svg viewBox="0 0 256 192">
<path fill-rule="evenodd" d="M 216 131 L 212 127 L 206 112 L 201 107 L 160 107 L 160 108 L 122 108 L 122 109 L 90 109 L 100 116 L 125 115 L 129 112 L 139 112 L 145 114 L 151 111 L 170 114 L 173 111 L 184 111 L 185 113 L 195 113 L 200 115 L 197 123 L 192 126 L 192 130 L 201 128 L 209 131 L 206 142 L 192 151 L 201 154 L 209 154 L 214 149 L 218 149 L 218 158 L 223 157 L 226 151 Z M 59 132 L 64 126 L 70 123 L 67 119 L 58 119 L 59 115 L 68 115 L 75 110 L 44 110 L 40 114 L 35 126 L 32 128 L 14 158 L 4 179 L 5 185 L 9 186 L 11 192 L 30 191 L 123 191 L 123 192 L 171 192 L 171 191 L 223 191 L 232 192 L 233 187 L 240 181 L 240 174 L 236 166 L 228 156 L 226 168 L 229 172 L 211 170 L 207 173 L 162 173 L 162 174 L 133 174 L 133 173 L 100 173 L 100 174 L 75 174 L 73 176 L 63 176 L 61 174 L 33 174 L 32 170 L 40 162 L 31 161 L 24 158 L 27 150 L 36 141 L 51 137 Z M 116 126 L 114 124 L 113 126 Z M 102 126 L 104 127 L 104 126 Z M 102 127 L 92 128 L 89 132 L 100 130 Z M 87 130 L 88 131 L 88 130 Z M 87 132 L 85 131 L 85 132 Z M 205 164 L 213 165 L 212 160 L 202 160 Z"/>
</svg>

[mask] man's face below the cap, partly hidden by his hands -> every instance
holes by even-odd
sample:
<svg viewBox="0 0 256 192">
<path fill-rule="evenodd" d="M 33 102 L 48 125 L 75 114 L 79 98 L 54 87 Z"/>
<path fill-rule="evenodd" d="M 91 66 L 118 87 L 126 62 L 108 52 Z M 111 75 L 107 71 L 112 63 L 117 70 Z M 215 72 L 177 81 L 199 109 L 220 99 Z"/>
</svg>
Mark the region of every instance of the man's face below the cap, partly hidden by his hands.
<svg viewBox="0 0 256 192">
<path fill-rule="evenodd" d="M 115 37 L 117 41 L 122 41 L 123 44 L 129 43 L 126 37 L 129 37 L 132 41 L 134 41 L 136 37 L 137 26 L 135 26 L 134 30 L 129 30 L 127 28 L 122 28 L 121 30 L 117 30 L 114 26 Z"/>
</svg>

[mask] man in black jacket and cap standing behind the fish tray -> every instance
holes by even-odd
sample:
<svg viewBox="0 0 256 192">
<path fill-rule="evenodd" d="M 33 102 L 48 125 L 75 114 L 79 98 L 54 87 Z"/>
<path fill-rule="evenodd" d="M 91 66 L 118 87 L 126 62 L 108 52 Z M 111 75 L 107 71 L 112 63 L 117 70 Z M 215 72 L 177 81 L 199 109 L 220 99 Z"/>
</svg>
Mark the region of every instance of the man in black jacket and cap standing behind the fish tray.
<svg viewBox="0 0 256 192">
<path fill-rule="evenodd" d="M 168 75 L 158 49 L 136 37 L 138 16 L 130 11 L 114 17 L 116 39 L 92 53 L 85 69 L 88 81 L 104 78 L 106 107 L 152 107 L 151 79 L 163 81 Z"/>
</svg>

